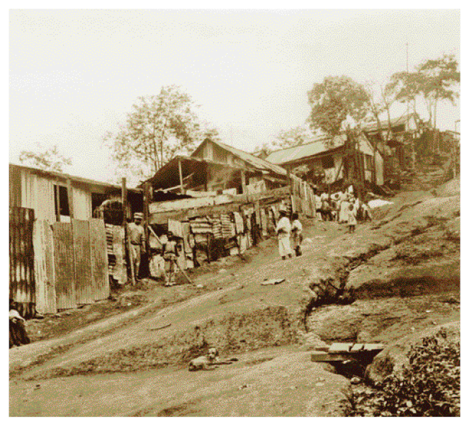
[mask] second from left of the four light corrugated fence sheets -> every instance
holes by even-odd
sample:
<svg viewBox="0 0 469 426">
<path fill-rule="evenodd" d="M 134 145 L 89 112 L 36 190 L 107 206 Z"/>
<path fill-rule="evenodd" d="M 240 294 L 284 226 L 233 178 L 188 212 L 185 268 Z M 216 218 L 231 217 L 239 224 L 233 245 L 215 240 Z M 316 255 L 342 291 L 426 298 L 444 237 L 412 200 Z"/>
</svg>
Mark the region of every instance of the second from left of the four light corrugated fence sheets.
<svg viewBox="0 0 469 426">
<path fill-rule="evenodd" d="M 72 224 L 56 222 L 52 225 L 52 231 L 57 309 L 76 308 Z"/>
</svg>

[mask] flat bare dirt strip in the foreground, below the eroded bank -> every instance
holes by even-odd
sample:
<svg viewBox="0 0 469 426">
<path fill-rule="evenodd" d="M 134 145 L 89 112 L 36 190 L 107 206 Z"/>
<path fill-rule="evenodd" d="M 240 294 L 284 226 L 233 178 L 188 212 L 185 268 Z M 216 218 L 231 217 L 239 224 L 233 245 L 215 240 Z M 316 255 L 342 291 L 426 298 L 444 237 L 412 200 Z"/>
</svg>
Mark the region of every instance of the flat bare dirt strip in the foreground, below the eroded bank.
<svg viewBox="0 0 469 426">
<path fill-rule="evenodd" d="M 282 347 L 210 372 L 167 368 L 13 381 L 10 415 L 327 415 L 345 385 L 344 377 L 310 362 L 307 352 Z"/>
</svg>

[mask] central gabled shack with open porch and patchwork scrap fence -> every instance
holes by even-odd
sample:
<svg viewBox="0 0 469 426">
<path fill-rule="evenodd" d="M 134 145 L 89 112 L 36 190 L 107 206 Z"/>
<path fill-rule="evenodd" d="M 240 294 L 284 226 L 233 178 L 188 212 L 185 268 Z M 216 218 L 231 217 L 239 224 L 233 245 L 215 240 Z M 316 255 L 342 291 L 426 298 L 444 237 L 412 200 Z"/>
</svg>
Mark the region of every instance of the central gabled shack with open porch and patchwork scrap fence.
<svg viewBox="0 0 469 426">
<path fill-rule="evenodd" d="M 176 156 L 144 185 L 151 186 L 148 224 L 156 234 L 170 229 L 181 238 L 186 268 L 242 254 L 274 234 L 281 207 L 315 216 L 310 185 L 280 166 L 210 139 L 191 156 Z M 156 238 L 149 236 L 149 245 L 158 252 Z"/>
</svg>

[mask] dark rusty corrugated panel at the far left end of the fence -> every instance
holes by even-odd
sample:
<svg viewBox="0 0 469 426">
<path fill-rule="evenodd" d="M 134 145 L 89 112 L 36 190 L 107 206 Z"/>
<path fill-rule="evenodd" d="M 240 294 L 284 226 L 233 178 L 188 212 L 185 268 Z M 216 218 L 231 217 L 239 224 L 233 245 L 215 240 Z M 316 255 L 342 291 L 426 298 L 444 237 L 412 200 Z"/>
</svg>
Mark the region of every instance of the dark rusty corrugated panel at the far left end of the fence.
<svg viewBox="0 0 469 426">
<path fill-rule="evenodd" d="M 35 283 L 33 253 L 34 210 L 10 207 L 10 299 L 21 315 L 34 316 Z"/>
</svg>

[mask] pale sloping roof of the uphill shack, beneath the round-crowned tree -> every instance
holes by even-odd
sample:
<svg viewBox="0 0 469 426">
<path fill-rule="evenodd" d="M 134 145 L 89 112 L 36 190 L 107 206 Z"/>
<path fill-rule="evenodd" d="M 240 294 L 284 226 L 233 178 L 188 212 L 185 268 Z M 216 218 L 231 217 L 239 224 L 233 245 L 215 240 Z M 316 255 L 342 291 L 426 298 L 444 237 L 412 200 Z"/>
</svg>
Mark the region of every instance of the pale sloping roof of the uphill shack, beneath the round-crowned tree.
<svg viewBox="0 0 469 426">
<path fill-rule="evenodd" d="M 309 144 L 291 146 L 290 148 L 273 151 L 271 154 L 269 154 L 269 156 L 266 157 L 265 161 L 269 161 L 270 163 L 274 164 L 291 163 L 293 161 L 315 156 L 317 154 L 322 154 L 323 152 L 338 148 L 344 144 L 345 139 L 345 134 L 339 134 L 334 137 L 334 143 L 332 144 L 332 147 L 327 147 L 326 142 L 329 140 L 329 138 L 321 137 L 320 139 L 316 139 Z"/>
</svg>

